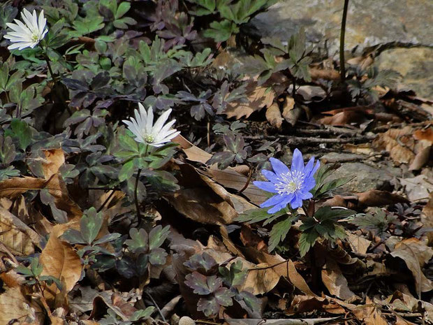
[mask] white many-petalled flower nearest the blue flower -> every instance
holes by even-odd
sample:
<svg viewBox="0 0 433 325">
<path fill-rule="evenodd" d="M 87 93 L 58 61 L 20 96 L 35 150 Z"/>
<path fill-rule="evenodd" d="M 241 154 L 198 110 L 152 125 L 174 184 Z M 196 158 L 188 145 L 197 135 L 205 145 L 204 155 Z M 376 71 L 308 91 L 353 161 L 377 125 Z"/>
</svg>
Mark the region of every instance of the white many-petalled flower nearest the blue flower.
<svg viewBox="0 0 433 325">
<path fill-rule="evenodd" d="M 170 142 L 171 139 L 175 138 L 180 132 L 176 129 L 170 129 L 176 120 L 171 120 L 165 124 L 168 120 L 168 115 L 171 113 L 171 108 L 166 110 L 154 124 L 154 111 L 152 106 L 145 110 L 142 104 L 138 103 L 139 110 L 135 110 L 135 119 L 131 117 L 131 120 L 123 120 L 129 131 L 134 133 L 135 141 L 145 143 L 147 145 L 153 145 L 154 147 L 161 147 L 164 143 Z"/>
</svg>

